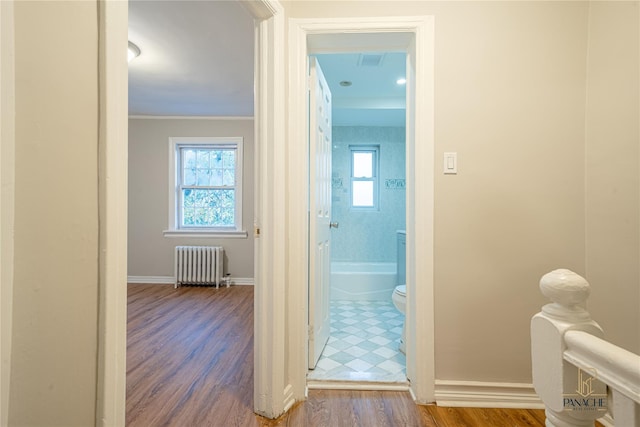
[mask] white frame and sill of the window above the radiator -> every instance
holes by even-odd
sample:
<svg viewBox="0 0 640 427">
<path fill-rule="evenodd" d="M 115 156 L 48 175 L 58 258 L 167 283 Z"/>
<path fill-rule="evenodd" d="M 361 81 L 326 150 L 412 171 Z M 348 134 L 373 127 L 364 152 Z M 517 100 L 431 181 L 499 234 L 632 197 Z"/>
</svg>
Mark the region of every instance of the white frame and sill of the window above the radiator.
<svg viewBox="0 0 640 427">
<path fill-rule="evenodd" d="M 235 164 L 235 215 L 234 226 L 182 226 L 182 158 L 183 148 L 225 148 L 233 147 L 236 150 Z M 165 237 L 225 237 L 246 238 L 242 221 L 242 195 L 243 195 L 243 163 L 244 163 L 244 138 L 243 137 L 170 137 L 169 138 L 169 228 L 163 232 Z"/>
</svg>

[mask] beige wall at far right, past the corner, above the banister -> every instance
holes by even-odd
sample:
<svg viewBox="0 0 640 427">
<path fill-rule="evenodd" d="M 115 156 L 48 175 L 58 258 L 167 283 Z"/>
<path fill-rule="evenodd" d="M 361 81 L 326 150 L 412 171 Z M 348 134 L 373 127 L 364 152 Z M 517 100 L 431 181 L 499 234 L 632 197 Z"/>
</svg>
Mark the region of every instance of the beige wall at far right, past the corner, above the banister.
<svg viewBox="0 0 640 427">
<path fill-rule="evenodd" d="M 589 13 L 586 121 L 588 308 L 611 342 L 640 354 L 640 4 Z"/>
</svg>

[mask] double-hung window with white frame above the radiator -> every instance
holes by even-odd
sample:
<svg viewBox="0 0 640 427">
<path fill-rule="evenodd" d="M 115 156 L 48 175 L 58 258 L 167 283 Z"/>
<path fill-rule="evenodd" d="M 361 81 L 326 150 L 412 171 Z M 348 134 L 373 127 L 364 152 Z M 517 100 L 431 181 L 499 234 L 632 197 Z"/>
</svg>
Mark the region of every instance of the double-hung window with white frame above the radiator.
<svg viewBox="0 0 640 427">
<path fill-rule="evenodd" d="M 221 234 L 242 228 L 242 138 L 170 138 L 172 177 L 165 236 Z"/>
</svg>

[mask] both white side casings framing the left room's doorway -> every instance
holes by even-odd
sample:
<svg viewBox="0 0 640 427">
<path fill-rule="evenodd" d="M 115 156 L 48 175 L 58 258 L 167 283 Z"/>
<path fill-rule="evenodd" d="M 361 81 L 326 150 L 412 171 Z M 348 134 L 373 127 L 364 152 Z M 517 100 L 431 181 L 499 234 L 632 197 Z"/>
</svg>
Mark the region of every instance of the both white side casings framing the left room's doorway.
<svg viewBox="0 0 640 427">
<path fill-rule="evenodd" d="M 285 386 L 283 375 L 285 323 L 280 316 L 286 241 L 285 218 L 278 214 L 286 209 L 282 77 L 285 18 L 278 0 L 239 1 L 255 19 L 256 40 L 254 230 L 260 238 L 255 239 L 254 411 L 276 418 L 293 404 L 291 387 Z M 96 425 L 121 426 L 126 415 L 128 2 L 100 0 L 98 4 L 100 275 Z"/>
</svg>

